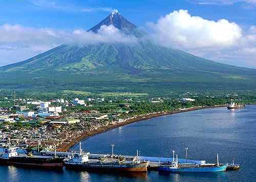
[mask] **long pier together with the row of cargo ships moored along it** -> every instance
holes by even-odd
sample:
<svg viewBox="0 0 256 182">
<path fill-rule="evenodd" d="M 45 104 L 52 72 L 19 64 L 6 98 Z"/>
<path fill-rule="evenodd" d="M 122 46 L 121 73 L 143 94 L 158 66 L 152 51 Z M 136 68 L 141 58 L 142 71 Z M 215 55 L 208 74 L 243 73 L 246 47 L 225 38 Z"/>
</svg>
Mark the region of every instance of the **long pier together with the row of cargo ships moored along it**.
<svg viewBox="0 0 256 182">
<path fill-rule="evenodd" d="M 40 168 L 73 168 L 76 170 L 95 170 L 95 171 L 120 171 L 120 172 L 146 172 L 148 170 L 165 172 L 221 172 L 239 169 L 239 164 L 220 164 L 219 155 L 217 162 L 210 164 L 206 161 L 189 160 L 178 158 L 173 150 L 173 157 L 154 157 L 137 155 L 114 154 L 114 144 L 112 154 L 94 154 L 82 150 L 79 143 L 79 152 L 57 152 L 49 150 L 34 150 L 32 153 L 18 153 L 17 147 L 1 148 L 0 164 L 15 165 L 20 167 L 40 167 Z M 25 151 L 25 150 L 24 150 Z"/>
</svg>

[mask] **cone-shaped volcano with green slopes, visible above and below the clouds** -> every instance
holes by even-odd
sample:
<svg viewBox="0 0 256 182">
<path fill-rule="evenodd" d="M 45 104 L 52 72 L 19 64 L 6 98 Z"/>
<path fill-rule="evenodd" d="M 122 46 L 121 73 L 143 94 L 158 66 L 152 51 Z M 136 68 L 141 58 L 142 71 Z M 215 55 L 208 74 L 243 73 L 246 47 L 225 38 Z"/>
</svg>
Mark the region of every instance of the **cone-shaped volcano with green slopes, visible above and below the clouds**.
<svg viewBox="0 0 256 182">
<path fill-rule="evenodd" d="M 89 31 L 113 25 L 124 33 L 137 32 L 136 26 L 117 11 Z M 138 34 L 136 34 L 137 36 Z M 150 41 L 133 45 L 60 45 L 28 60 L 0 67 L 2 78 L 20 84 L 87 81 L 153 81 L 255 84 L 256 70 L 217 63 L 164 47 Z M 0 80 L 0 85 L 6 83 Z"/>
</svg>

